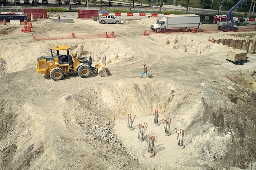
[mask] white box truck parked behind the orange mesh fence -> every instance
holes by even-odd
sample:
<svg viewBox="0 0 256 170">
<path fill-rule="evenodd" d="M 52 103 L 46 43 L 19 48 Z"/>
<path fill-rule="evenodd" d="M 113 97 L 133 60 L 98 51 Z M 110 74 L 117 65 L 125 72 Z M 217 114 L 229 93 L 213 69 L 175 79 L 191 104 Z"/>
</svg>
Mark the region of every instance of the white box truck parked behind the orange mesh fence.
<svg viewBox="0 0 256 170">
<path fill-rule="evenodd" d="M 197 29 L 200 26 L 200 16 L 195 14 L 183 15 L 163 15 L 162 20 L 152 24 L 150 29 L 160 32 L 164 29 L 182 29 L 184 32 L 188 29 Z"/>
</svg>

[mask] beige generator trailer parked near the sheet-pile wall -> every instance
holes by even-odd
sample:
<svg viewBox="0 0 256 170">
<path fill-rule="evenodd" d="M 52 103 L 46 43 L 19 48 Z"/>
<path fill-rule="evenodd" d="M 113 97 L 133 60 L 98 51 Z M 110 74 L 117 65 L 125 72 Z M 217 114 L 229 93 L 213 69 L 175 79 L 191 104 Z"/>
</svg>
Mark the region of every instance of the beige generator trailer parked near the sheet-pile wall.
<svg viewBox="0 0 256 170">
<path fill-rule="evenodd" d="M 248 59 L 248 57 L 246 55 L 247 55 L 247 51 L 236 49 L 236 50 L 227 52 L 226 60 L 229 62 L 233 62 L 233 63 L 239 64 L 239 65 L 242 65 Z"/>
</svg>

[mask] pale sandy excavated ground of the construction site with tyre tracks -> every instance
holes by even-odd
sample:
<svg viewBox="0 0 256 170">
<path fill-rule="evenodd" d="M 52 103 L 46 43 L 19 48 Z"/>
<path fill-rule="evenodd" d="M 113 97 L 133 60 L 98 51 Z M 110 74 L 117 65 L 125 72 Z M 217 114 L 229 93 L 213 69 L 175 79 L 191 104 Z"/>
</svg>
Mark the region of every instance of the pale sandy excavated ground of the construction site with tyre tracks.
<svg viewBox="0 0 256 170">
<path fill-rule="evenodd" d="M 121 24 L 52 19 L 57 13 L 32 22 L 31 33 L 22 32 L 23 25 L 0 26 L 1 170 L 255 169 L 256 55 L 233 64 L 225 60 L 232 48 L 211 42 L 255 39 L 254 25 L 238 26 L 238 32 L 202 24 L 195 33 L 154 33 L 150 25 L 157 18 L 125 18 Z M 62 13 L 62 19 L 70 18 Z M 72 31 L 90 39 L 57 40 Z M 115 38 L 99 38 L 111 31 Z M 49 40 L 33 40 L 32 34 Z M 37 58 L 58 45 L 93 55 L 93 66 L 106 57 L 110 76 L 72 73 L 53 81 L 37 73 Z M 140 78 L 143 63 L 151 78 Z M 128 114 L 136 115 L 134 130 L 127 128 Z M 169 136 L 166 118 L 171 118 Z M 139 141 L 144 123 L 148 127 Z M 175 128 L 185 130 L 183 149 L 177 147 Z M 152 158 L 150 134 L 156 137 Z"/>
</svg>

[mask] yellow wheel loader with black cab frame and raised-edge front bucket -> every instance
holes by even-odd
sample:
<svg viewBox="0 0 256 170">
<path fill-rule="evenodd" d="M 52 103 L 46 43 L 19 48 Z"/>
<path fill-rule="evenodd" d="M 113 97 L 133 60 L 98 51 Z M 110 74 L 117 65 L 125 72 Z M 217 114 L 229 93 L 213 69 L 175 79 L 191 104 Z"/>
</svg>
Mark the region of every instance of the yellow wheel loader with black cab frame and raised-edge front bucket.
<svg viewBox="0 0 256 170">
<path fill-rule="evenodd" d="M 50 75 L 53 80 L 61 80 L 70 72 L 77 72 L 82 78 L 89 77 L 91 73 L 108 77 L 101 61 L 92 67 L 92 57 L 90 60 L 87 60 L 86 57 L 72 57 L 69 53 L 69 46 L 55 46 L 54 49 L 57 51 L 56 55 L 53 55 L 52 49 L 50 49 L 51 56 L 38 57 L 36 68 L 38 73 Z"/>
</svg>

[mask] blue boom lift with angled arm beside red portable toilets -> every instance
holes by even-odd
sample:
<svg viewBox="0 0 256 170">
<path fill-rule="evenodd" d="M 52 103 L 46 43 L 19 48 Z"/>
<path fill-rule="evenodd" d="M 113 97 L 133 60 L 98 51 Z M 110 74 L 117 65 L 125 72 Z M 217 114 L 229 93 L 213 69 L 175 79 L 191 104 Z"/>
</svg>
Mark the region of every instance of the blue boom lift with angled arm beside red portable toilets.
<svg viewBox="0 0 256 170">
<path fill-rule="evenodd" d="M 217 25 L 218 25 L 218 30 L 221 30 L 223 32 L 226 32 L 228 29 L 229 30 L 233 30 L 233 31 L 238 31 L 238 28 L 235 27 L 234 25 L 236 24 L 233 20 L 233 15 L 232 12 L 234 11 L 234 9 L 237 9 L 239 7 L 240 4 L 243 3 L 244 0 L 240 0 L 236 3 L 236 5 L 227 12 L 227 20 L 226 21 L 218 21 Z"/>
</svg>

